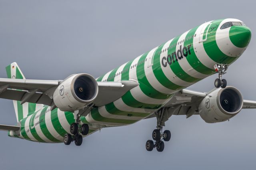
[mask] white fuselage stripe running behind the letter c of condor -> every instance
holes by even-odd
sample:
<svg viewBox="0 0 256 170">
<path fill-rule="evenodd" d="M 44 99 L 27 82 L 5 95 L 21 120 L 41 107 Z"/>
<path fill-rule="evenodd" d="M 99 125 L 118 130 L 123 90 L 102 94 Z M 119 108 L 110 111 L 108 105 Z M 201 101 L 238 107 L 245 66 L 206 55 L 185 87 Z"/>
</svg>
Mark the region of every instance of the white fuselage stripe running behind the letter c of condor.
<svg viewBox="0 0 256 170">
<path fill-rule="evenodd" d="M 170 46 L 170 43 L 172 42 L 172 40 L 169 40 L 168 42 L 166 42 L 164 44 L 164 46 L 162 47 L 162 50 L 168 48 Z M 179 85 L 179 86 L 183 86 L 183 87 L 192 85 L 192 83 L 186 82 L 186 81 L 180 79 L 178 76 L 176 76 L 174 74 L 174 72 L 172 71 L 170 65 L 168 65 L 168 63 L 167 63 L 166 67 L 164 67 L 162 65 L 162 58 L 167 57 L 167 55 L 168 55 L 168 50 L 166 50 L 160 54 L 160 63 L 161 63 L 160 65 L 161 65 L 162 71 L 164 72 L 164 75 L 167 77 L 167 79 L 169 79 L 172 83 Z M 177 62 L 177 61 L 175 60 L 175 62 Z"/>
</svg>

